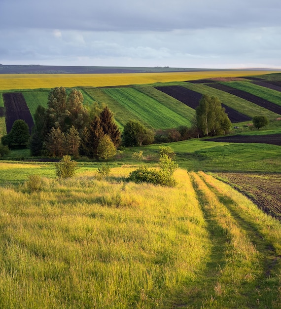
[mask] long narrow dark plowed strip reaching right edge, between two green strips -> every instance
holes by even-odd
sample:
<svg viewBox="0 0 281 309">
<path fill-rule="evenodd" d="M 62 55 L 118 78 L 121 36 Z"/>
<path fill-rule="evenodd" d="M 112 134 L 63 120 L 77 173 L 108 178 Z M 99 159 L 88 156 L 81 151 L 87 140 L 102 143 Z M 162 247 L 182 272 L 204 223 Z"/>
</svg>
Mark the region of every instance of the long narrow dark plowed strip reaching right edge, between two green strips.
<svg viewBox="0 0 281 309">
<path fill-rule="evenodd" d="M 242 91 L 242 90 L 239 90 L 239 89 L 235 89 L 235 88 L 232 88 L 228 85 L 223 85 L 223 84 L 220 84 L 220 83 L 211 83 L 211 84 L 208 84 L 209 87 L 212 87 L 212 88 L 215 88 L 215 89 L 218 89 L 218 90 L 222 90 L 222 91 L 225 91 L 227 93 L 230 93 L 230 94 L 233 94 L 233 95 L 236 95 L 237 97 L 240 97 L 242 99 L 245 99 L 249 102 L 252 102 L 258 106 L 261 106 L 271 112 L 274 112 L 276 114 L 280 114 L 281 115 L 281 106 L 278 106 L 272 102 L 269 102 L 267 100 L 264 100 L 262 98 L 259 98 L 253 94 L 250 94 L 246 91 Z"/>
</svg>

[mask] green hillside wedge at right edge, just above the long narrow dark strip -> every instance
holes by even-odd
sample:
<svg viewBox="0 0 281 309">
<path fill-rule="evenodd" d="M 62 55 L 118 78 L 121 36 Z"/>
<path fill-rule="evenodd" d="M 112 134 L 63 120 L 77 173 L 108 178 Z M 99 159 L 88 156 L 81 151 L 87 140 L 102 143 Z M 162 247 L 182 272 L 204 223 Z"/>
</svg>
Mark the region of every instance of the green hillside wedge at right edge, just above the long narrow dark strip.
<svg viewBox="0 0 281 309">
<path fill-rule="evenodd" d="M 227 86 L 233 87 L 235 89 L 246 91 L 253 94 L 259 98 L 265 99 L 269 102 L 275 103 L 281 106 L 281 92 L 277 90 L 272 90 L 266 87 L 255 85 L 251 82 L 244 81 L 231 81 L 231 82 L 221 82 Z"/>
</svg>

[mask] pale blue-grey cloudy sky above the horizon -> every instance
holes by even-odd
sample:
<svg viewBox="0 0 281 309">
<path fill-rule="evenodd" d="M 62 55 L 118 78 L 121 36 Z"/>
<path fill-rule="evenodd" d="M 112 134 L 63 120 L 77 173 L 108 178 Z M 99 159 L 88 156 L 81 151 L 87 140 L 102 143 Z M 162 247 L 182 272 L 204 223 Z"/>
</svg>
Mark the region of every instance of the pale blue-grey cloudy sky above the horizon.
<svg viewBox="0 0 281 309">
<path fill-rule="evenodd" d="M 0 63 L 280 68 L 280 0 L 0 0 Z"/>
</svg>

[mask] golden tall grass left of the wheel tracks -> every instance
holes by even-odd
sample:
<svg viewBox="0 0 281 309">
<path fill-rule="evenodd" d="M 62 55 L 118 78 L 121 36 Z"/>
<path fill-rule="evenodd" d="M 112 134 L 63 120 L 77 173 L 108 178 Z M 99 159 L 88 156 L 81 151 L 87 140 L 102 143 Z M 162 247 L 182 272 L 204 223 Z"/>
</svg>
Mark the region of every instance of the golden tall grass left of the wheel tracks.
<svg viewBox="0 0 281 309">
<path fill-rule="evenodd" d="M 209 244 L 187 173 L 163 188 L 131 170 L 0 188 L 0 308 L 163 308 L 196 277 Z"/>
</svg>

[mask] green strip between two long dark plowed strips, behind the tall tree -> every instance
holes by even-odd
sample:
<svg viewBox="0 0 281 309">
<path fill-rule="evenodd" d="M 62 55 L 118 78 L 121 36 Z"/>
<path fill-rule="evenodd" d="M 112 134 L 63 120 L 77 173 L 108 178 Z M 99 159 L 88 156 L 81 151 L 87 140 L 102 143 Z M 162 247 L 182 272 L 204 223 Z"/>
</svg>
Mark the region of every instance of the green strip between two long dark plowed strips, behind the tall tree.
<svg viewBox="0 0 281 309">
<path fill-rule="evenodd" d="M 218 89 L 211 88 L 205 84 L 193 84 L 188 82 L 185 83 L 182 82 L 180 83 L 180 85 L 202 94 L 217 96 L 223 104 L 249 117 L 260 115 L 260 116 L 266 116 L 269 119 L 274 119 L 279 116 L 278 114 L 271 112 L 254 103 L 251 103 L 245 99 L 239 98 L 235 95 L 232 95 L 230 93 Z"/>
</svg>

